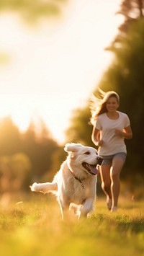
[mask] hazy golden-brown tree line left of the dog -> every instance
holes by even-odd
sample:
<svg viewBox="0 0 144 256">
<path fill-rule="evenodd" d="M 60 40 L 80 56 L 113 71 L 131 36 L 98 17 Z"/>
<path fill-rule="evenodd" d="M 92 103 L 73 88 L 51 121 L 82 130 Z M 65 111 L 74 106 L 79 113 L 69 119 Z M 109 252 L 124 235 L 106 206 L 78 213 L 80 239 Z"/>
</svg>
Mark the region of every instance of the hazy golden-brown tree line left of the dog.
<svg viewBox="0 0 144 256">
<path fill-rule="evenodd" d="M 41 119 L 39 132 L 35 124 L 30 123 L 24 133 L 14 125 L 12 118 L 0 120 L 1 192 L 27 190 L 32 181 L 52 179 L 64 157 L 63 148 Z"/>
</svg>

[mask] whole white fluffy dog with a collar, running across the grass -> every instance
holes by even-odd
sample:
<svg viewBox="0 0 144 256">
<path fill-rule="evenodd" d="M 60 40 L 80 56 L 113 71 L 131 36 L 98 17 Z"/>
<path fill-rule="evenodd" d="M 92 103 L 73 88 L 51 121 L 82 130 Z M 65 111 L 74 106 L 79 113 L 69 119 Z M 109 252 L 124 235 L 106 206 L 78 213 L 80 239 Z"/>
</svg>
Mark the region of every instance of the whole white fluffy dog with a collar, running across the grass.
<svg viewBox="0 0 144 256">
<path fill-rule="evenodd" d="M 96 149 L 81 144 L 66 144 L 68 157 L 55 175 L 53 182 L 34 183 L 32 191 L 53 193 L 57 196 L 62 218 L 71 203 L 75 205 L 75 213 L 88 216 L 93 210 L 96 198 L 96 177 L 99 170 L 96 165 L 102 164 L 102 157 Z"/>
</svg>

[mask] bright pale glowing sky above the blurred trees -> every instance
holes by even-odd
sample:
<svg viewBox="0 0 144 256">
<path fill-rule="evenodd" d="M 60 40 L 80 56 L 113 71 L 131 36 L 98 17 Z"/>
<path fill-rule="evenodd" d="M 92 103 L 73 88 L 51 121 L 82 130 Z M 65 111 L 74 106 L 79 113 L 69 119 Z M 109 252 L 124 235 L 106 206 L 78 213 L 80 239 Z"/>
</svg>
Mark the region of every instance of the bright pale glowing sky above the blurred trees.
<svg viewBox="0 0 144 256">
<path fill-rule="evenodd" d="M 87 104 L 112 62 L 105 51 L 122 20 L 120 0 L 69 0 L 60 17 L 24 25 L 16 14 L 1 14 L 0 118 L 10 115 L 20 131 L 34 116 L 44 120 L 60 144 L 71 114 Z"/>
</svg>

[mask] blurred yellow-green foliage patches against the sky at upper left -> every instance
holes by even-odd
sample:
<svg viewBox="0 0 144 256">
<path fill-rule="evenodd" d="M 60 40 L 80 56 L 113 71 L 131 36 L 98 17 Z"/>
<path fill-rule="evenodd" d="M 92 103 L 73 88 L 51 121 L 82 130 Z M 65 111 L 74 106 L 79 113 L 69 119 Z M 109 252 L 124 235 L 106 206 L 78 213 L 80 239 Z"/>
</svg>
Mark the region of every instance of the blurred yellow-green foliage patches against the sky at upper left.
<svg viewBox="0 0 144 256">
<path fill-rule="evenodd" d="M 40 24 L 43 19 L 60 16 L 64 4 L 68 0 L 1 0 L 0 13 L 14 14 L 26 25 Z M 9 53 L 0 50 L 0 66 L 9 63 Z"/>
</svg>

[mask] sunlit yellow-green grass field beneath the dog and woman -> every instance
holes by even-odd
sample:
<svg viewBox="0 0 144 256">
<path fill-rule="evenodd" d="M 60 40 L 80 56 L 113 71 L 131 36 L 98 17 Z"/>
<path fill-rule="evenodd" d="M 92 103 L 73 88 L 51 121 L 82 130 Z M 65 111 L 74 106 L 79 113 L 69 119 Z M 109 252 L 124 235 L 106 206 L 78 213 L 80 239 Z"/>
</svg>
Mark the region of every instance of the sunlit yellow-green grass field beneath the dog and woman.
<svg viewBox="0 0 144 256">
<path fill-rule="evenodd" d="M 1 256 L 144 255 L 144 202 L 120 198 L 110 213 L 103 198 L 88 219 L 62 221 L 55 198 L 33 195 L 0 206 Z"/>
</svg>

